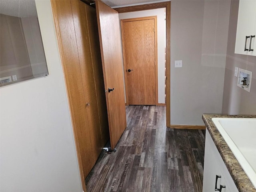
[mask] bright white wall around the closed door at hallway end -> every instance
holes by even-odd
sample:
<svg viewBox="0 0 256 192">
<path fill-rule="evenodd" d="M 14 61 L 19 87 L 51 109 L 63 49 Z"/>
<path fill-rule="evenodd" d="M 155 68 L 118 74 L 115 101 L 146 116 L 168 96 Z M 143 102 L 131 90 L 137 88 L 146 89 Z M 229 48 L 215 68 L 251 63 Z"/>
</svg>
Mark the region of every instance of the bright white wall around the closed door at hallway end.
<svg viewBox="0 0 256 192">
<path fill-rule="evenodd" d="M 158 103 L 165 103 L 165 83 L 164 83 L 165 55 L 164 54 L 165 54 L 166 21 L 165 21 L 164 8 L 120 13 L 119 20 L 128 19 L 128 18 L 148 17 L 148 16 L 157 16 Z M 121 27 L 120 27 L 120 32 L 121 32 Z"/>
</svg>

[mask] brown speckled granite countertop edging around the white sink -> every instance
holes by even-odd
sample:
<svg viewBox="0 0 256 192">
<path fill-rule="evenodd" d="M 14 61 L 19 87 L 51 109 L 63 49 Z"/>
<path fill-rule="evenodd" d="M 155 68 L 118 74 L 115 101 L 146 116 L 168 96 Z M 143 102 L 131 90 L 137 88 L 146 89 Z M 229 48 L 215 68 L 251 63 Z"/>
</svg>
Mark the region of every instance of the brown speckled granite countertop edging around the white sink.
<svg viewBox="0 0 256 192">
<path fill-rule="evenodd" d="M 224 138 L 212 122 L 212 118 L 256 118 L 256 115 L 224 115 L 224 114 L 203 114 L 202 119 L 206 125 L 207 130 L 212 136 L 212 140 L 216 145 L 220 156 L 222 157 L 230 175 L 232 176 L 236 187 L 239 192 L 256 192 L 256 189 L 252 185 L 252 182 L 240 166 L 238 160 L 226 144 Z"/>
</svg>

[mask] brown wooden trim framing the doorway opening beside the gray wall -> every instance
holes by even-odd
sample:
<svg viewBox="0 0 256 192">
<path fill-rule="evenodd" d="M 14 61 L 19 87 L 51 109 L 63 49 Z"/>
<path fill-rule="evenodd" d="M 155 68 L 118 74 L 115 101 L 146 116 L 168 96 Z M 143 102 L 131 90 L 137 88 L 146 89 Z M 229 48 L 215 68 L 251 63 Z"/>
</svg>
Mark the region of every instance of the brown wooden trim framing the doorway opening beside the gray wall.
<svg viewBox="0 0 256 192">
<path fill-rule="evenodd" d="M 166 126 L 171 126 L 171 105 L 170 105 L 170 58 L 171 58 L 171 47 L 170 47 L 170 34 L 171 34 L 171 2 L 160 2 L 128 7 L 114 8 L 119 13 L 150 10 L 166 8 Z"/>
</svg>

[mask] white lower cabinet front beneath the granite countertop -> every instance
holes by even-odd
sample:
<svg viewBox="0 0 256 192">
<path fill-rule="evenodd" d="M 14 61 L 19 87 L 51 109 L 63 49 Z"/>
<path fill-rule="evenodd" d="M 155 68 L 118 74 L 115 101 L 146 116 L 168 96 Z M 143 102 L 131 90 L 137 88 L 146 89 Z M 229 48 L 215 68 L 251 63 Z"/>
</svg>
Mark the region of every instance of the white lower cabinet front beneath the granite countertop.
<svg viewBox="0 0 256 192">
<path fill-rule="evenodd" d="M 217 182 L 216 175 L 221 176 Z M 203 192 L 215 192 L 215 186 L 220 189 L 220 185 L 226 187 L 222 188 L 221 192 L 238 192 L 218 149 L 206 129 Z"/>
</svg>

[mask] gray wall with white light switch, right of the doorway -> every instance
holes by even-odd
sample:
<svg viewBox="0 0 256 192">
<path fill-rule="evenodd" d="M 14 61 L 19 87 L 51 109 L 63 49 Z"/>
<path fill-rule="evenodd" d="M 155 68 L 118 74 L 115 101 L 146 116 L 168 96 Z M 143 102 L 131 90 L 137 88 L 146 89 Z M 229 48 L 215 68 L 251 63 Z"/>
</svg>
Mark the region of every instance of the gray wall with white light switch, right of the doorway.
<svg viewBox="0 0 256 192">
<path fill-rule="evenodd" d="M 221 113 L 229 14 L 228 0 L 171 1 L 171 124 Z"/>
</svg>

